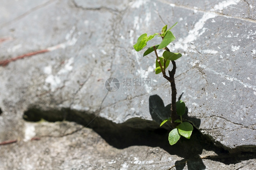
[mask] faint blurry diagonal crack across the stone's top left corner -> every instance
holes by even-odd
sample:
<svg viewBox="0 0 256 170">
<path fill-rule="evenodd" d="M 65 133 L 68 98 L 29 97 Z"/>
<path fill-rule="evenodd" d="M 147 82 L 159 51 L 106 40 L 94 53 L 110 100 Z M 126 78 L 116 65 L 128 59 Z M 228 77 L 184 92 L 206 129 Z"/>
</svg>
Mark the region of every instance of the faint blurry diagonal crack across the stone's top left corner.
<svg viewBox="0 0 256 170">
<path fill-rule="evenodd" d="M 15 23 L 16 21 L 18 21 L 18 20 L 20 20 L 20 19 L 26 17 L 26 16 L 29 15 L 30 13 L 35 12 L 35 11 L 37 11 L 38 9 L 41 9 L 41 8 L 43 8 L 43 7 L 46 7 L 47 5 L 51 4 L 51 3 L 54 2 L 54 1 L 56 1 L 56 0 L 49 0 L 49 1 L 45 2 L 45 3 L 43 3 L 43 4 L 40 4 L 40 5 L 36 6 L 36 7 L 33 7 L 33 8 L 31 8 L 31 9 L 29 9 L 27 12 L 25 12 L 25 13 L 19 15 L 18 17 L 14 18 L 13 20 L 10 20 L 10 21 L 7 21 L 6 23 L 1 24 L 1 25 L 0 25 L 0 30 L 1 30 L 2 28 L 4 28 L 5 26 L 8 26 L 8 25 L 10 25 L 10 24 L 12 24 L 12 23 Z"/>
</svg>

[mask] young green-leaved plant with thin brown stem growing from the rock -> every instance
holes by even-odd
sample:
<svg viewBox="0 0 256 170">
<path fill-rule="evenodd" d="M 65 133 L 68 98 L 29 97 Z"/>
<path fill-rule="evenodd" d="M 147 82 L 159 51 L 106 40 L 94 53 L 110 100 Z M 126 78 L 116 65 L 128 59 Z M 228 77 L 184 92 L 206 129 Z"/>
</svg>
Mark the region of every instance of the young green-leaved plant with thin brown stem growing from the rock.
<svg viewBox="0 0 256 170">
<path fill-rule="evenodd" d="M 175 23 L 171 28 L 173 28 L 177 23 Z M 175 144 L 180 136 L 184 136 L 187 139 L 190 139 L 190 136 L 193 131 L 193 126 L 188 122 L 182 122 L 182 115 L 185 113 L 185 103 L 181 100 L 176 102 L 177 99 L 177 90 L 175 85 L 174 75 L 176 72 L 176 63 L 175 60 L 180 58 L 182 54 L 180 53 L 173 53 L 170 52 L 167 45 L 169 45 L 172 41 L 176 38 L 170 31 L 171 28 L 167 30 L 167 25 L 162 28 L 161 33 L 155 33 L 153 35 L 147 36 L 147 34 L 142 34 L 135 45 L 133 45 L 136 51 L 142 50 L 146 45 L 147 42 L 153 39 L 156 35 L 161 36 L 162 42 L 158 45 L 153 45 L 149 47 L 143 54 L 143 57 L 155 52 L 156 55 L 156 69 L 155 73 L 159 74 L 162 73 L 163 77 L 171 83 L 171 115 L 170 118 L 164 120 L 160 126 L 162 126 L 167 121 L 171 122 L 172 127 L 174 128 L 169 133 L 169 143 L 171 145 Z M 159 57 L 157 54 L 157 49 L 164 49 L 163 57 Z M 168 70 L 169 76 L 166 75 L 166 68 L 169 66 L 170 62 L 172 63 L 172 70 Z M 180 116 L 180 119 L 179 117 Z"/>
</svg>

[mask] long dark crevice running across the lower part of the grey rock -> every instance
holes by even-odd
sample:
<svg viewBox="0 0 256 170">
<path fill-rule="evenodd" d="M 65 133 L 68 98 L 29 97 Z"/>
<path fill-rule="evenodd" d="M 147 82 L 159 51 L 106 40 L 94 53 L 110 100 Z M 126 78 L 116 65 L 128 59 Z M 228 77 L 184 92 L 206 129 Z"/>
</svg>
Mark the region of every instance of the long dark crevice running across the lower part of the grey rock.
<svg viewBox="0 0 256 170">
<path fill-rule="evenodd" d="M 171 129 L 168 126 L 160 128 L 155 121 L 144 120 L 138 117 L 131 118 L 124 123 L 116 124 L 110 120 L 102 117 L 96 117 L 95 114 L 88 112 L 81 112 L 63 108 L 61 110 L 49 109 L 41 110 L 32 107 L 24 112 L 24 120 L 37 122 L 41 119 L 49 122 L 55 121 L 72 121 L 79 123 L 88 128 L 92 128 L 110 145 L 118 149 L 124 149 L 129 146 L 160 147 L 166 150 L 171 155 L 178 155 L 184 158 L 183 161 L 177 161 L 177 167 L 182 167 L 184 161 L 197 162 L 199 169 L 205 169 L 202 159 L 210 159 L 225 164 L 235 164 L 243 160 L 256 158 L 256 147 L 249 147 L 247 151 L 241 149 L 225 150 L 220 147 L 221 144 L 213 141 L 207 135 L 202 134 L 199 130 L 194 128 L 191 139 L 181 137 L 181 139 L 174 145 L 168 142 L 168 134 Z M 93 120 L 93 121 L 91 121 Z M 244 148 L 245 146 L 241 146 Z M 216 154 L 206 157 L 200 157 L 203 150 L 214 151 Z M 191 164 L 192 166 L 192 164 Z M 194 166 L 194 165 L 193 165 Z M 179 169 L 179 168 L 178 168 Z"/>
</svg>

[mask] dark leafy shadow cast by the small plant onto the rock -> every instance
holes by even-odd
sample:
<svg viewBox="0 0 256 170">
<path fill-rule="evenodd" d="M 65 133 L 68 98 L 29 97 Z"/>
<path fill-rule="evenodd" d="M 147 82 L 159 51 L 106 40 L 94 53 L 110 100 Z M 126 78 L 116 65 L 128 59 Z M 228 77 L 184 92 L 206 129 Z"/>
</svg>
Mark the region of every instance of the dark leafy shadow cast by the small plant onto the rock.
<svg viewBox="0 0 256 170">
<path fill-rule="evenodd" d="M 180 100 L 181 97 L 182 95 L 179 96 L 178 100 Z M 163 100 L 160 98 L 160 96 L 152 95 L 149 97 L 149 112 L 152 119 L 160 124 L 163 120 L 170 117 L 171 104 L 164 106 Z M 187 107 L 183 117 L 184 121 L 188 121 L 192 123 L 194 127 L 199 128 L 201 120 L 193 117 L 188 117 Z M 168 128 L 167 126 L 164 127 Z M 188 169 L 205 169 L 206 167 L 199 156 L 200 154 L 202 154 L 203 149 L 213 149 L 215 150 L 215 152 L 223 152 L 220 151 L 219 148 L 217 149 L 212 147 L 212 144 L 210 143 L 208 143 L 208 145 L 205 145 L 205 142 L 207 140 L 202 139 L 203 136 L 196 128 L 194 128 L 190 139 L 186 139 L 185 137 L 181 136 L 180 140 L 176 144 L 174 144 L 173 146 L 168 146 L 170 148 L 170 154 L 175 154 L 184 158 L 180 161 L 175 162 L 175 167 L 177 170 L 184 169 L 186 163 L 188 165 Z M 171 126 L 169 126 L 169 130 L 171 131 Z M 166 137 L 165 140 L 168 141 L 168 137 Z"/>
</svg>

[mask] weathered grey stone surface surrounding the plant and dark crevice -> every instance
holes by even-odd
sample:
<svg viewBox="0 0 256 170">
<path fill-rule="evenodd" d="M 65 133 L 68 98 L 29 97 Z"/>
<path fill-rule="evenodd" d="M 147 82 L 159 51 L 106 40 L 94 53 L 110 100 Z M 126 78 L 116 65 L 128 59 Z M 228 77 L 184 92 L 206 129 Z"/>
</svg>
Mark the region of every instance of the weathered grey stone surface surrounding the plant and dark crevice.
<svg viewBox="0 0 256 170">
<path fill-rule="evenodd" d="M 154 121 L 168 115 L 170 85 L 155 75 L 154 55 L 143 58 L 143 51 L 135 52 L 132 45 L 141 34 L 154 34 L 176 21 L 172 32 L 177 39 L 169 48 L 183 54 L 177 60 L 176 85 L 177 96 L 188 107 L 186 120 L 218 148 L 231 154 L 255 153 L 255 7 L 249 0 L 3 2 L 0 62 L 46 52 L 0 66 L 0 142 L 18 139 L 0 146 L 0 169 L 198 169 L 196 161 L 187 161 L 184 167 L 184 161 L 179 162 L 184 155 L 167 152 L 159 143 L 118 149 L 75 123 L 65 128 L 23 120 L 31 108 L 46 111 L 49 119 L 55 113 L 60 113 L 57 120 L 65 119 L 63 108 L 68 108 L 75 118 L 67 120 L 84 126 L 99 116 L 135 129 L 156 129 Z M 121 83 L 114 93 L 105 89 L 109 77 Z M 151 78 L 150 86 L 131 87 L 150 91 L 129 91 L 123 86 L 124 77 Z M 93 124 L 96 131 L 97 123 L 102 120 Z M 46 134 L 44 128 L 52 133 Z M 45 137 L 29 141 L 34 136 Z M 60 158 L 55 161 L 56 156 Z M 199 159 L 200 168 L 255 166 L 255 156 L 230 164 L 213 159 Z"/>
</svg>

